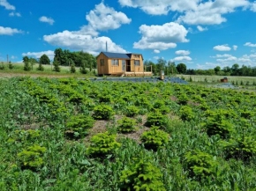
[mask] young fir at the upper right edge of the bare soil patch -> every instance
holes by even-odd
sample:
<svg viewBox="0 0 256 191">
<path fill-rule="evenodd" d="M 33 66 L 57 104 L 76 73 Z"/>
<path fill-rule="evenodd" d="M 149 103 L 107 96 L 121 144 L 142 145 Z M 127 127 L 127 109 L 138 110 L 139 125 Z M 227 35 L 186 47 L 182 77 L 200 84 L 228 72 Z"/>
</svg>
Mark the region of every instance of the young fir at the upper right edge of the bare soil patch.
<svg viewBox="0 0 256 191">
<path fill-rule="evenodd" d="M 166 115 L 163 115 L 159 110 L 155 110 L 147 115 L 147 126 L 157 126 L 163 128 L 167 123 Z"/>
</svg>

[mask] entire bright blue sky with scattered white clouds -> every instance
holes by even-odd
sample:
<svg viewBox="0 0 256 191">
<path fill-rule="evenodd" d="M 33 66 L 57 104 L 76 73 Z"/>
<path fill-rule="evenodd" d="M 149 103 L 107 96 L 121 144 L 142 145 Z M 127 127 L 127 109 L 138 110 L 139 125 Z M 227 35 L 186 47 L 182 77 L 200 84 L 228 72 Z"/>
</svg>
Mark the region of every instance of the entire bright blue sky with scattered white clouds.
<svg viewBox="0 0 256 191">
<path fill-rule="evenodd" d="M 256 1 L 0 0 L 0 61 L 56 48 L 142 54 L 189 69 L 256 67 Z"/>
</svg>

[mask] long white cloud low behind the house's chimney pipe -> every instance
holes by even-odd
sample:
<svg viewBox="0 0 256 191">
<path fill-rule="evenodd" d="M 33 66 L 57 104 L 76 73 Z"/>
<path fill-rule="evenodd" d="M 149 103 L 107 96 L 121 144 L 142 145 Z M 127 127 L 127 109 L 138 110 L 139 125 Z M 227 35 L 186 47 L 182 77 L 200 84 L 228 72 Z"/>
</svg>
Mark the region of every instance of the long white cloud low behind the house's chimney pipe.
<svg viewBox="0 0 256 191">
<path fill-rule="evenodd" d="M 109 52 L 125 53 L 126 51 L 115 44 L 109 37 L 96 37 L 82 32 L 70 32 L 64 31 L 62 33 L 55 33 L 50 35 L 44 35 L 43 40 L 49 44 L 71 48 L 76 50 L 84 50 L 91 54 L 98 54 L 101 51 L 105 51 L 106 41 L 108 42 Z"/>
</svg>

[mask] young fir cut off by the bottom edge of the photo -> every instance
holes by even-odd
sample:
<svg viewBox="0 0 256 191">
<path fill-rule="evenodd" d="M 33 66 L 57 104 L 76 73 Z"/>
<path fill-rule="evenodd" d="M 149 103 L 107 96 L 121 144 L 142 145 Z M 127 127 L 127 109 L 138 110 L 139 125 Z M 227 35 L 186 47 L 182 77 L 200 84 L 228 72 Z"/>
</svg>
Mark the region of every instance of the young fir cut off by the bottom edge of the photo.
<svg viewBox="0 0 256 191">
<path fill-rule="evenodd" d="M 162 183 L 162 173 L 156 166 L 144 159 L 133 164 L 129 170 L 122 171 L 121 190 L 166 190 Z"/>
</svg>

